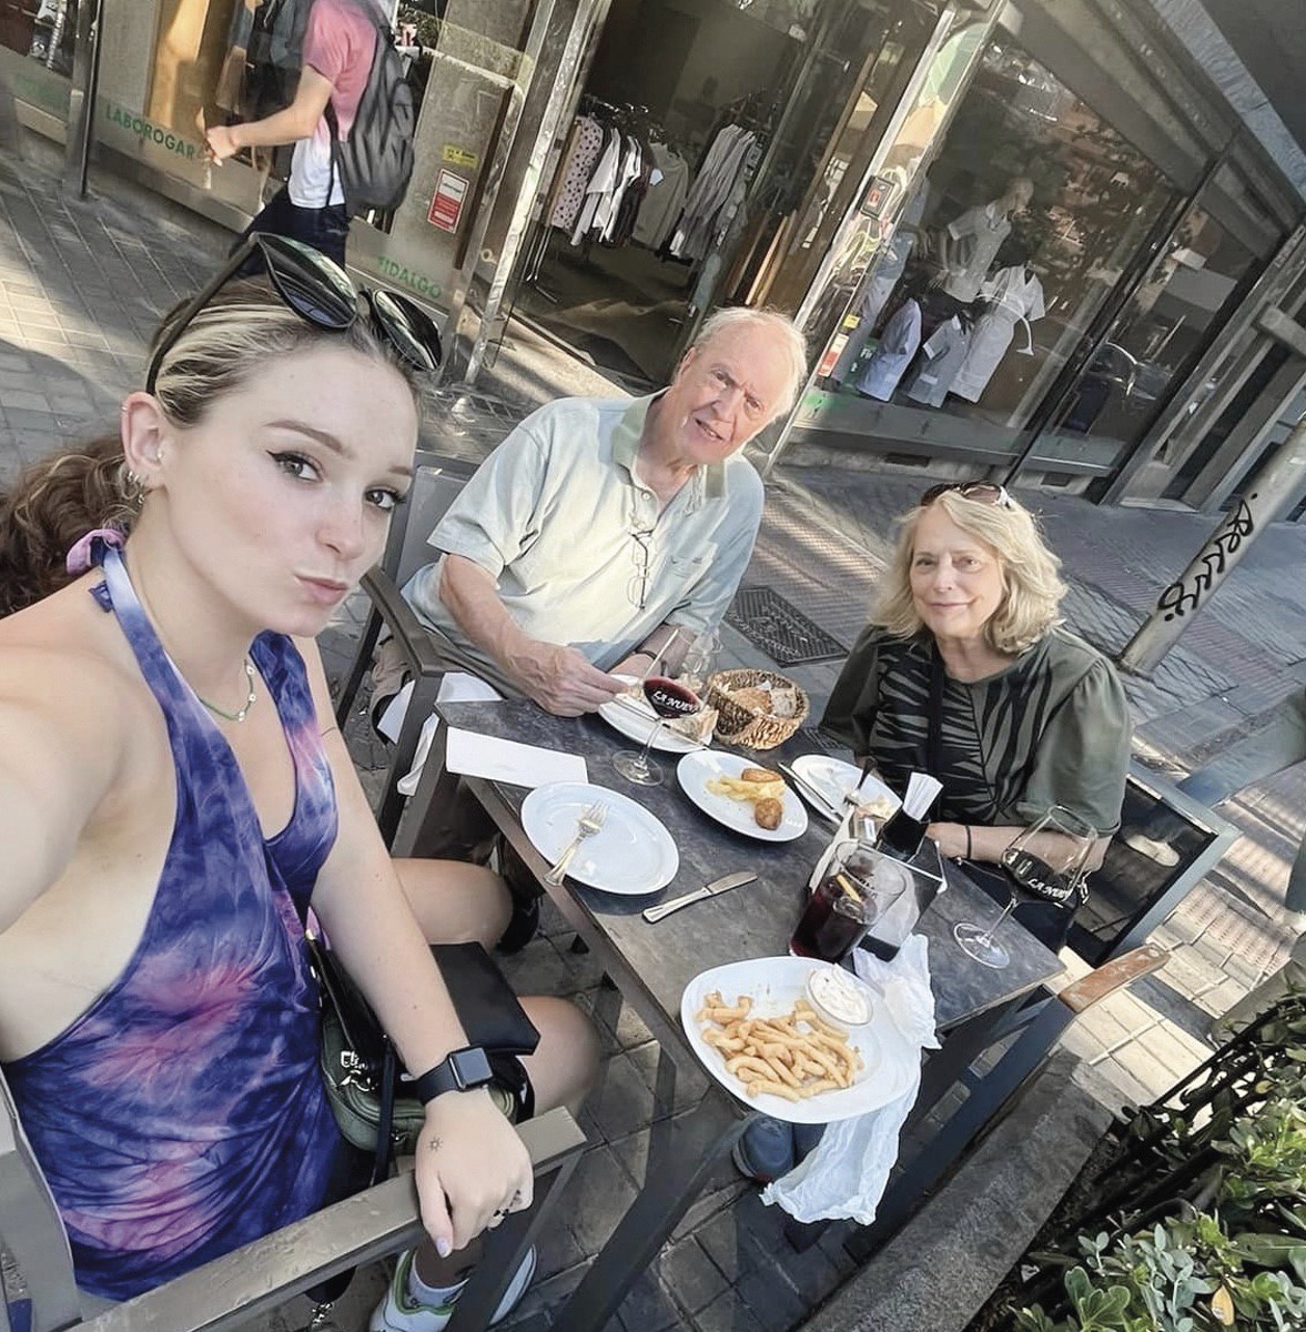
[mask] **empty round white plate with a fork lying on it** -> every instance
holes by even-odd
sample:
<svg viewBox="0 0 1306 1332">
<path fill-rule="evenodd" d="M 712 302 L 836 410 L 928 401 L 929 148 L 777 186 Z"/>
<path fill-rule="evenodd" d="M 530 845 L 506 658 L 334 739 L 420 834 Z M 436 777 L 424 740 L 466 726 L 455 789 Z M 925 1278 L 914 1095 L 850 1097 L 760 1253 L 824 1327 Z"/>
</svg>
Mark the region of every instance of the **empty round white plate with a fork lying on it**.
<svg viewBox="0 0 1306 1332">
<path fill-rule="evenodd" d="M 576 835 L 580 815 L 596 801 L 607 806 L 603 827 L 578 848 L 567 876 L 604 892 L 638 895 L 666 887 L 680 867 L 671 834 L 628 795 L 587 782 L 537 786 L 522 801 L 522 827 L 546 860 L 556 860 Z"/>
</svg>

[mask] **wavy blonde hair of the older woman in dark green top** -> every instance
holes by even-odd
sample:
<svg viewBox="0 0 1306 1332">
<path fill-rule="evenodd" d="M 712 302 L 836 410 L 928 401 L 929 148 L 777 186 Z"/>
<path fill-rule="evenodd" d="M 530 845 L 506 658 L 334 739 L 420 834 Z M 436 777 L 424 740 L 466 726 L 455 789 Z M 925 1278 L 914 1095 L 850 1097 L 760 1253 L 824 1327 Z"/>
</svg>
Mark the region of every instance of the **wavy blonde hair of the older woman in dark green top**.
<svg viewBox="0 0 1306 1332">
<path fill-rule="evenodd" d="M 941 505 L 959 527 L 982 541 L 998 558 L 1004 593 L 984 626 L 989 646 L 1012 655 L 1033 647 L 1060 622 L 1061 598 L 1066 594 L 1058 573 L 1061 561 L 1044 543 L 1034 515 L 1014 501 L 1006 507 L 968 500 L 957 490 L 945 490 L 931 507 L 935 505 Z M 873 625 L 895 638 L 915 638 L 925 629 L 912 599 L 912 554 L 916 526 L 924 513 L 916 507 L 897 519 L 897 549 L 871 617 Z"/>
</svg>

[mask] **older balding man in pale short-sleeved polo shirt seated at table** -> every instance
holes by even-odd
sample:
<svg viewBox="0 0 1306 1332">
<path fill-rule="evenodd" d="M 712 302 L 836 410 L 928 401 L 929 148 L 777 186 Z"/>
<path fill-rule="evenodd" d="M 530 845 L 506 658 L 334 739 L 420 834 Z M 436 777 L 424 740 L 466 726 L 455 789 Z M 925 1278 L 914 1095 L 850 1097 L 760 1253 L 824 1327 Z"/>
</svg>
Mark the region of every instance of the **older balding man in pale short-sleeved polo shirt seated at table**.
<svg viewBox="0 0 1306 1332">
<path fill-rule="evenodd" d="M 442 558 L 403 589 L 449 666 L 572 717 L 620 691 L 611 671 L 646 670 L 675 627 L 714 629 L 762 518 L 740 450 L 804 374 L 789 320 L 728 309 L 662 393 L 527 417 L 435 527 Z"/>
</svg>

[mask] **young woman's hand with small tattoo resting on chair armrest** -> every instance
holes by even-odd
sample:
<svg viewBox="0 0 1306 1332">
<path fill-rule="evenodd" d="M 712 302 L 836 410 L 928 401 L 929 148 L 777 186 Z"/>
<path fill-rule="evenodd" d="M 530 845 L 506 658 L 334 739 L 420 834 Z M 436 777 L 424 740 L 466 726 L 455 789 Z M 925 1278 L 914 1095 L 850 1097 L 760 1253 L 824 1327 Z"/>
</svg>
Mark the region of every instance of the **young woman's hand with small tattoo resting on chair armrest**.
<svg viewBox="0 0 1306 1332">
<path fill-rule="evenodd" d="M 445 1092 L 427 1104 L 417 1140 L 417 1193 L 422 1224 L 442 1257 L 530 1207 L 534 1181 L 526 1146 L 489 1092 Z"/>
</svg>

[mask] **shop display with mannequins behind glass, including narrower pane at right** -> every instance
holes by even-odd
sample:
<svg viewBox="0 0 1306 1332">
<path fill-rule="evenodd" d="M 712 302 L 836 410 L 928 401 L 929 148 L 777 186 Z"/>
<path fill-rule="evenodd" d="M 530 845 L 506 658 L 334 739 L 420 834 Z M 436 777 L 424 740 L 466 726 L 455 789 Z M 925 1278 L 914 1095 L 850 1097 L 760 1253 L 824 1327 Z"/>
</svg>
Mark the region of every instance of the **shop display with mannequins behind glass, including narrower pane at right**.
<svg viewBox="0 0 1306 1332">
<path fill-rule="evenodd" d="M 1068 360 L 1180 196 L 1006 35 L 986 47 L 909 188 L 819 381 L 859 404 L 857 434 L 881 440 L 1001 456 L 1054 393 L 1040 454 L 1109 462 L 1150 424 L 1257 262 L 1210 212 L 1189 208 L 1062 394 Z"/>
</svg>

